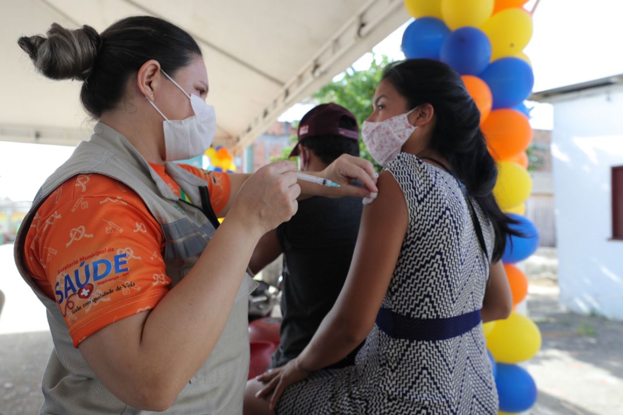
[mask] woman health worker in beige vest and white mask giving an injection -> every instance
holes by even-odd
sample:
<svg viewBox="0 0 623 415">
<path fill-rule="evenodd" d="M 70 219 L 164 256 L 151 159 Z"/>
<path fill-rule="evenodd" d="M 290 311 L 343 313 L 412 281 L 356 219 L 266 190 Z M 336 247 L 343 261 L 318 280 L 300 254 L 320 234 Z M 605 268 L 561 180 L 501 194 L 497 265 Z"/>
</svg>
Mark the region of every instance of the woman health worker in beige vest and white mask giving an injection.
<svg viewBox="0 0 623 415">
<path fill-rule="evenodd" d="M 373 166 L 344 156 L 316 173 L 341 184 L 327 188 L 299 184 L 287 161 L 252 175 L 173 163 L 211 145 L 216 116 L 199 46 L 162 19 L 101 34 L 53 24 L 18 43 L 45 77 L 82 81 L 97 121 L 42 185 L 15 244 L 54 341 L 40 413 L 241 413 L 257 241 L 301 194 L 378 191 Z"/>
</svg>

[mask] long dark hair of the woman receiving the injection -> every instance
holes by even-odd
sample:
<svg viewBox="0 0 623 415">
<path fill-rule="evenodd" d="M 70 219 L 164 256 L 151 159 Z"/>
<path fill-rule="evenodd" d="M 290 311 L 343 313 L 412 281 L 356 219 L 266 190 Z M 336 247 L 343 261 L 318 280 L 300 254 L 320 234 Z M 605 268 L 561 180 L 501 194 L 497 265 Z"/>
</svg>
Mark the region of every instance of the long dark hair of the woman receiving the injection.
<svg viewBox="0 0 623 415">
<path fill-rule="evenodd" d="M 430 146 L 449 161 L 454 175 L 492 222 L 492 257 L 497 262 L 504 254 L 506 236 L 518 233 L 509 227 L 515 221 L 500 210 L 493 198 L 497 166 L 480 131 L 480 112 L 460 75 L 436 60 L 409 59 L 386 67 L 383 80 L 406 98 L 409 110 L 424 103 L 434 108 L 437 123 Z"/>
</svg>

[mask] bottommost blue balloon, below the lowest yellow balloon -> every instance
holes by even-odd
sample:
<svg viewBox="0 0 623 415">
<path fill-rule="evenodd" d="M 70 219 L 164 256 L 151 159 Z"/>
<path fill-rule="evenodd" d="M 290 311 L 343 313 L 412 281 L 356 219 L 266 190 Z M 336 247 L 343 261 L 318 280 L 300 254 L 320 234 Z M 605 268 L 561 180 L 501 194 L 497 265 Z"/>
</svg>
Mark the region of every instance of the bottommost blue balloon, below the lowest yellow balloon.
<svg viewBox="0 0 623 415">
<path fill-rule="evenodd" d="M 517 365 L 498 363 L 495 386 L 500 398 L 500 411 L 518 413 L 527 411 L 536 402 L 536 384 L 530 373 Z"/>
</svg>

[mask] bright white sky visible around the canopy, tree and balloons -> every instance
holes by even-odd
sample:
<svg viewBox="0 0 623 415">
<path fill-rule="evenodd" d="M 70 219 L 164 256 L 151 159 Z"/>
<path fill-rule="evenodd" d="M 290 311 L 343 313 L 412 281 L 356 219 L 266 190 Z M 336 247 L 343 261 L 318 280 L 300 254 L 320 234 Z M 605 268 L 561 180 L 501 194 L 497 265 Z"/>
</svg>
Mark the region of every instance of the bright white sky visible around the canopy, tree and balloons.
<svg viewBox="0 0 623 415">
<path fill-rule="evenodd" d="M 530 0 L 526 8 L 531 9 L 534 2 Z M 534 34 L 525 49 L 535 73 L 534 90 L 623 74 L 622 16 L 622 0 L 541 0 L 533 16 Z M 374 47 L 374 52 L 388 55 L 392 60 L 404 59 L 400 44 L 406 26 L 399 27 Z M 364 69 L 370 59 L 371 55 L 364 55 L 354 67 Z M 312 104 L 295 105 L 279 120 L 300 120 L 311 107 Z M 533 128 L 553 128 L 550 105 L 536 105 L 531 115 Z M 0 198 L 31 200 L 44 179 L 73 150 L 64 146 L 0 142 Z M 14 179 L 15 174 L 11 173 L 23 171 L 24 163 L 32 167 L 31 174 Z"/>
</svg>

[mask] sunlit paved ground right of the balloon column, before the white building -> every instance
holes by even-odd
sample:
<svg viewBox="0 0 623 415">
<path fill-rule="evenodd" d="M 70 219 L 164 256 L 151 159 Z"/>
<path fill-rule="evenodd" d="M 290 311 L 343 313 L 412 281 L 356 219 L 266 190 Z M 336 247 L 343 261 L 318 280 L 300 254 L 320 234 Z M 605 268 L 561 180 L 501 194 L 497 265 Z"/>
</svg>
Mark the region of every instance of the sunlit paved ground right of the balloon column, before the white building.
<svg viewBox="0 0 623 415">
<path fill-rule="evenodd" d="M 551 280 L 531 280 L 528 312 L 543 336 L 525 365 L 538 388 L 530 413 L 623 414 L 623 322 L 564 312 Z"/>
</svg>

